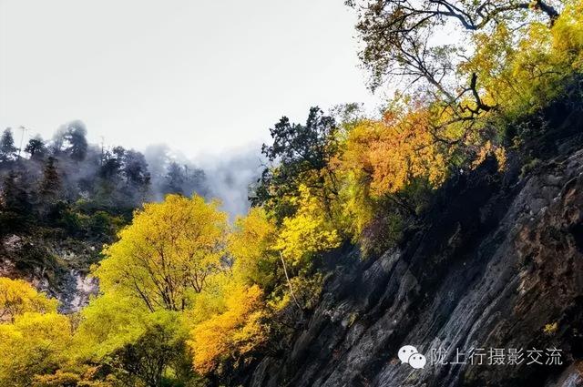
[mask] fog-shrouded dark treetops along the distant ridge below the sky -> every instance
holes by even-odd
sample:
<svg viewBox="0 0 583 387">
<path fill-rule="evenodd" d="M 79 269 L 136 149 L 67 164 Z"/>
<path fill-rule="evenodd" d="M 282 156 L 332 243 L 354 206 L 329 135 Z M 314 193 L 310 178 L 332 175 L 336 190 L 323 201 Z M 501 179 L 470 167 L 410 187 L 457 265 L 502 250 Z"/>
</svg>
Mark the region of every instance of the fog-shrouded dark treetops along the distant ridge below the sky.
<svg viewBox="0 0 583 387">
<path fill-rule="evenodd" d="M 50 198 L 53 204 L 90 201 L 98 209 L 128 215 L 146 201 L 196 193 L 220 199 L 234 216 L 249 208 L 248 187 L 261 166 L 255 148 L 205 158 L 203 170 L 164 144 L 151 145 L 144 152 L 89 144 L 87 127 L 79 120 L 58 127 L 51 139 L 35 135 L 21 145 L 16 130 L 8 127 L 0 137 L 3 192 L 8 195 L 7 189 L 14 186 L 21 201 L 39 210 Z"/>
</svg>

